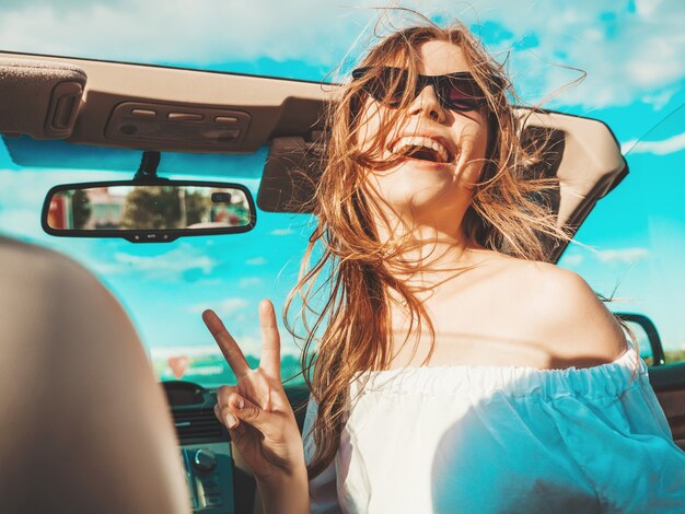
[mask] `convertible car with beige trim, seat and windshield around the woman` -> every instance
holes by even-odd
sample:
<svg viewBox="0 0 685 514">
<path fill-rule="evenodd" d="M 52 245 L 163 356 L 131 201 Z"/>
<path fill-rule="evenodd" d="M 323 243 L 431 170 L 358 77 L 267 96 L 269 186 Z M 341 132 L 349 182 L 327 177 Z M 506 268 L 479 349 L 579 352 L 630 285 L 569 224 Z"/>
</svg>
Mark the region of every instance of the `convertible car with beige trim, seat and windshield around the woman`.
<svg viewBox="0 0 685 514">
<path fill-rule="evenodd" d="M 235 377 L 200 313 L 214 308 L 258 362 L 257 302 L 278 313 L 294 283 L 336 91 L 0 52 L 4 512 L 262 511 L 214 417 L 217 388 Z M 518 115 L 522 138 L 544 147 L 531 176 L 560 178 L 558 224 L 581 230 L 632 177 L 613 132 L 562 113 Z M 549 245 L 548 261 L 565 253 Z M 72 318 L 55 318 L 72 304 Z M 684 359 L 664 351 L 646 313 L 619 314 L 685 448 Z M 107 331 L 90 332 L 92 320 Z M 286 336 L 281 373 L 302 429 L 309 392 Z"/>
</svg>

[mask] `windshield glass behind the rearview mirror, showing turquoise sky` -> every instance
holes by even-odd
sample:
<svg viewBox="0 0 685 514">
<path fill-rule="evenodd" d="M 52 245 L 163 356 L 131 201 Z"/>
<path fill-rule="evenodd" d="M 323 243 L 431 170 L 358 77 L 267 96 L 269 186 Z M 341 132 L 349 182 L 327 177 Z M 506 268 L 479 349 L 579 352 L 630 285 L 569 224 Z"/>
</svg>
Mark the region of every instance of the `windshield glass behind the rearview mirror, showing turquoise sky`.
<svg viewBox="0 0 685 514">
<path fill-rule="evenodd" d="M 32 148 L 34 159 L 35 152 L 44 152 L 45 161 L 53 166 L 69 162 L 70 149 L 74 149 L 73 153 L 93 155 L 91 160 L 79 160 L 83 168 L 18 166 L 10 151 L 25 147 Z M 266 155 L 265 149 L 243 156 L 163 153 L 159 174 L 177 179 L 239 182 L 256 198 Z M 70 255 L 95 272 L 126 307 L 161 379 L 183 377 L 206 386 L 234 381 L 200 314 L 206 308 L 214 309 L 240 342 L 251 365 L 256 365 L 262 352 L 257 305 L 268 297 L 277 313 L 282 309 L 297 279 L 307 234 L 312 232 L 312 217 L 258 211 L 256 227 L 244 234 L 194 236 L 148 245 L 119 238 L 54 237 L 43 232 L 39 212 L 50 187 L 132 178 L 137 170 L 133 163 L 140 157 L 141 152 L 133 150 L 83 150 L 62 142 L 3 139 L 0 145 L 3 232 Z M 71 161 L 77 159 L 71 156 Z M 96 161 L 109 165 L 102 166 Z M 112 170 L 113 163 L 128 162 L 129 168 Z M 199 170 L 201 175 L 197 173 Z M 98 206 L 91 207 L 91 215 L 97 215 Z M 285 335 L 283 331 L 283 379 L 300 370 L 294 341 L 288 343 Z M 299 379 L 301 376 L 294 381 Z"/>
</svg>

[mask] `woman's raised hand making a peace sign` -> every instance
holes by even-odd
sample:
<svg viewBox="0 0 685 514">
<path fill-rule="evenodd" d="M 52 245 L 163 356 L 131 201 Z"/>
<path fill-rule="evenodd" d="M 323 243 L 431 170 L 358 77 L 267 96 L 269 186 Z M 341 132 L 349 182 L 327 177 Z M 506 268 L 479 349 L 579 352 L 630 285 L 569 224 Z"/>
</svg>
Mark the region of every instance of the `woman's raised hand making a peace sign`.
<svg viewBox="0 0 685 514">
<path fill-rule="evenodd" d="M 262 359 L 252 370 L 223 323 L 213 311 L 205 311 L 202 320 L 214 337 L 231 370 L 235 386 L 217 392 L 214 413 L 229 429 L 237 451 L 252 468 L 255 478 L 269 481 L 292 476 L 305 467 L 302 437 L 280 377 L 280 336 L 274 305 L 259 303 Z"/>
</svg>

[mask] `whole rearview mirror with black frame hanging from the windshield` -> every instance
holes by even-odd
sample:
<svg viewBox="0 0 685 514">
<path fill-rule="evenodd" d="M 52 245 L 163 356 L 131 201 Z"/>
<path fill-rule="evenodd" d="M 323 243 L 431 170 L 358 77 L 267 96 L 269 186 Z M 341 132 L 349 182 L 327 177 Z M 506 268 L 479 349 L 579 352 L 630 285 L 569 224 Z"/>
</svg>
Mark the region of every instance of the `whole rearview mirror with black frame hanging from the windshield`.
<svg viewBox="0 0 685 514">
<path fill-rule="evenodd" d="M 164 178 L 56 186 L 40 217 L 51 235 L 132 243 L 247 232 L 256 221 L 255 202 L 242 184 Z"/>
</svg>

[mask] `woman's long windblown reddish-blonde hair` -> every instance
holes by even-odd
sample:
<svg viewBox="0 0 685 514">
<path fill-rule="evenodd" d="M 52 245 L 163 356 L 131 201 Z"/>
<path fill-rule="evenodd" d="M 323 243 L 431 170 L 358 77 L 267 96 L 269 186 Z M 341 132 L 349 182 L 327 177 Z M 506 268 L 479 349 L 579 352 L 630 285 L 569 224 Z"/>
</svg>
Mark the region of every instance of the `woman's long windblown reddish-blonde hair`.
<svg viewBox="0 0 685 514">
<path fill-rule="evenodd" d="M 546 260 L 556 245 L 572 238 L 565 229 L 557 226 L 556 214 L 548 200 L 558 191 L 558 179 L 535 176 L 535 166 L 531 165 L 541 162 L 542 145 L 524 144 L 520 138 L 520 122 L 513 109 L 518 97 L 503 66 L 489 56 L 463 24 L 457 22 L 445 28 L 429 21 L 382 38 L 369 50 L 360 66 L 381 67 L 388 65 L 390 59 L 399 60 L 407 68 L 408 82 L 413 84 L 420 62 L 417 47 L 429 40 L 458 46 L 487 97 L 491 137 L 480 179 L 475 185 L 472 205 L 463 219 L 464 233 L 472 242 L 486 248 L 521 259 Z M 373 145 L 365 151 L 360 150 L 356 141 L 359 140 L 358 121 L 367 94 L 363 85 L 372 78 L 373 72 L 370 72 L 342 85 L 339 101 L 328 108 L 327 155 L 312 200 L 316 227 L 283 314 L 290 334 L 304 340 L 302 370 L 318 405 L 318 416 L 312 427 L 316 452 L 307 466 L 310 479 L 320 475 L 335 457 L 349 407 L 349 384 L 353 375 L 385 369 L 388 363 L 388 353 L 393 348 L 390 291 L 399 294 L 404 301 L 410 319 L 410 334 L 415 317 L 419 334 L 421 320 L 428 323 L 431 349 L 427 360 L 434 350 L 434 328 L 422 303 L 415 291 L 390 273 L 385 266 L 392 262 L 395 269 L 416 270 L 399 258 L 409 241 L 403 240 L 399 245 L 380 241 L 364 195 L 365 170 L 381 164 L 379 159 L 384 138 L 403 110 L 390 113 Z M 408 93 L 400 106 L 408 104 L 410 98 L 407 96 Z M 321 257 L 310 265 L 316 245 L 321 245 Z M 324 282 L 315 290 L 315 282 L 322 277 Z M 323 308 L 317 311 L 314 297 L 322 291 Z M 288 322 L 288 312 L 298 295 L 302 306 L 297 316 L 304 324 L 304 336 L 298 335 Z M 312 326 L 306 320 L 307 311 L 315 315 Z M 618 322 L 626 327 L 620 319 Z M 626 328 L 637 347 L 635 336 Z M 315 351 L 310 353 L 312 346 Z M 312 365 L 314 373 L 310 379 L 307 372 Z"/>
</svg>

